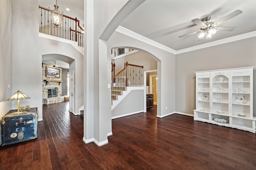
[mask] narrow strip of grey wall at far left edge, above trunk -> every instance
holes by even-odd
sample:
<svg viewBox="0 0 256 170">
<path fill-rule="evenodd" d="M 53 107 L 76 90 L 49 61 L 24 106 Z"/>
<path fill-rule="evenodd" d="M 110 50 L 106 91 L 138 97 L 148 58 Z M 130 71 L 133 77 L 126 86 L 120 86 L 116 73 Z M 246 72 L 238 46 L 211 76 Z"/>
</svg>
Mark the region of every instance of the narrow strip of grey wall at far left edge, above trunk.
<svg viewBox="0 0 256 170">
<path fill-rule="evenodd" d="M 0 118 L 12 109 L 12 1 L 0 1 Z M 8 88 L 10 84 L 10 88 Z M 0 126 L 1 131 L 1 126 Z M 2 137 L 0 135 L 0 145 Z"/>
</svg>

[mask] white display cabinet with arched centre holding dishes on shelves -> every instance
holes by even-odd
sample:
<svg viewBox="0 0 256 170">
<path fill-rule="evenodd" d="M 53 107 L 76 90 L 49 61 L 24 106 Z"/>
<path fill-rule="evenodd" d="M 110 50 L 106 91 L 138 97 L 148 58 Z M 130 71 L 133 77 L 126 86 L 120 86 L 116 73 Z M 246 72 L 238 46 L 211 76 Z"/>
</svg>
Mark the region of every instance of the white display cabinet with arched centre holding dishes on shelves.
<svg viewBox="0 0 256 170">
<path fill-rule="evenodd" d="M 253 68 L 196 72 L 194 120 L 255 133 Z"/>
</svg>

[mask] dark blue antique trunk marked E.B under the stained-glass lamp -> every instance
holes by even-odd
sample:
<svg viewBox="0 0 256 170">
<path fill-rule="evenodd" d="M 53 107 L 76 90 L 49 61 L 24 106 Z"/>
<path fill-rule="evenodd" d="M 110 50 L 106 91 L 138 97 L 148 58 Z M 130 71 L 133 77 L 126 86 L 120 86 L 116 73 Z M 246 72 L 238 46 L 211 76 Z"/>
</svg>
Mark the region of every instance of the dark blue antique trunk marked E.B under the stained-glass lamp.
<svg viewBox="0 0 256 170">
<path fill-rule="evenodd" d="M 37 118 L 37 107 L 30 108 L 24 113 L 10 110 L 1 120 L 2 146 L 37 138 Z"/>
</svg>

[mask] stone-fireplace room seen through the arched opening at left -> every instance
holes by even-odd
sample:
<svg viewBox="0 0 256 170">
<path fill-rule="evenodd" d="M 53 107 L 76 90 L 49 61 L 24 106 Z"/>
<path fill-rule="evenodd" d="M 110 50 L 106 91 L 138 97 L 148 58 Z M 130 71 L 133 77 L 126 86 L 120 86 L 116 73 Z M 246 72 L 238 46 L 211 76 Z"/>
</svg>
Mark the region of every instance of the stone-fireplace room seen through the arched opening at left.
<svg viewBox="0 0 256 170">
<path fill-rule="evenodd" d="M 43 101 L 43 104 L 53 104 L 57 102 L 63 102 L 65 100 L 65 97 L 69 96 L 69 100 L 70 100 L 69 111 L 73 114 L 75 113 L 74 111 L 75 98 L 74 96 L 70 95 L 74 92 L 74 88 L 72 88 L 74 86 L 70 84 L 70 80 L 69 80 L 69 76 L 70 76 L 69 73 L 74 72 L 75 70 L 75 64 L 72 64 L 74 62 L 75 62 L 74 59 L 65 55 L 60 55 L 60 54 L 42 55 L 42 69 L 43 69 L 42 101 Z M 49 77 L 48 69 L 59 70 L 59 76 Z M 54 92 L 54 94 L 52 94 L 52 92 Z"/>
</svg>

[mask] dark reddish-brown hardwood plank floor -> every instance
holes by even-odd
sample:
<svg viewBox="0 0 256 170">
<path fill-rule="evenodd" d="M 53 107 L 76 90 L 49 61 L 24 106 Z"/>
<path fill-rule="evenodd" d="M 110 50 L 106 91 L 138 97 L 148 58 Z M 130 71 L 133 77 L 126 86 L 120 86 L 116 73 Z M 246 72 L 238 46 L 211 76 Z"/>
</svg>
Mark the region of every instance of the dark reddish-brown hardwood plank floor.
<svg viewBox="0 0 256 170">
<path fill-rule="evenodd" d="M 85 144 L 83 117 L 69 103 L 43 105 L 38 138 L 0 147 L 0 170 L 256 169 L 256 135 L 174 114 L 156 106 L 112 120 L 108 144 Z"/>
</svg>

